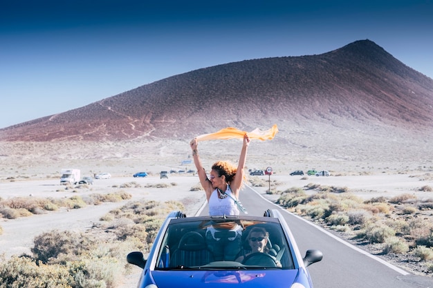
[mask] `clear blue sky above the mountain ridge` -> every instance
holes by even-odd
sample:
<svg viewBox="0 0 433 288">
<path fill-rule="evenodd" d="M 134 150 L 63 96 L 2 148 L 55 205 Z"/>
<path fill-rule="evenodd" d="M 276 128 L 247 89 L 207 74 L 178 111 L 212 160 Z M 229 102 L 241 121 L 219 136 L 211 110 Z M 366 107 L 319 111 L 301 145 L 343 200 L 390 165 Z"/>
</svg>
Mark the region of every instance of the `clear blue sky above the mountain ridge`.
<svg viewBox="0 0 433 288">
<path fill-rule="evenodd" d="M 433 78 L 433 0 L 1 1 L 0 128 L 199 68 L 360 39 Z"/>
</svg>

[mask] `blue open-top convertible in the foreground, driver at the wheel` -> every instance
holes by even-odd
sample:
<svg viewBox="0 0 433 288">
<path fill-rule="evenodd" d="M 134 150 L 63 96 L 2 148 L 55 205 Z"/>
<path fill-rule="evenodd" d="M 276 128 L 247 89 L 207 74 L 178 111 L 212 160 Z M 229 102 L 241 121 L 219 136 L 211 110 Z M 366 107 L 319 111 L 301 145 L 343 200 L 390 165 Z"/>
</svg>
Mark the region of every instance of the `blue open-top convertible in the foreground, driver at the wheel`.
<svg viewBox="0 0 433 288">
<path fill-rule="evenodd" d="M 232 230 L 234 227 L 236 232 Z M 249 236 L 255 228 L 265 229 L 269 236 Z M 228 245 L 230 238 L 239 240 L 239 245 Z M 251 253 L 249 243 L 256 241 L 266 241 L 268 251 Z M 216 258 L 211 252 L 216 245 L 230 247 L 225 254 L 230 255 L 230 260 Z M 315 249 L 301 257 L 293 234 L 277 209 L 265 211 L 264 216 L 191 218 L 181 211 L 173 211 L 162 224 L 147 258 L 142 252 L 134 251 L 127 255 L 127 262 L 143 269 L 138 288 L 196 288 L 206 284 L 214 288 L 237 285 L 311 288 L 313 284 L 306 267 L 322 257 L 322 252 Z"/>
</svg>

